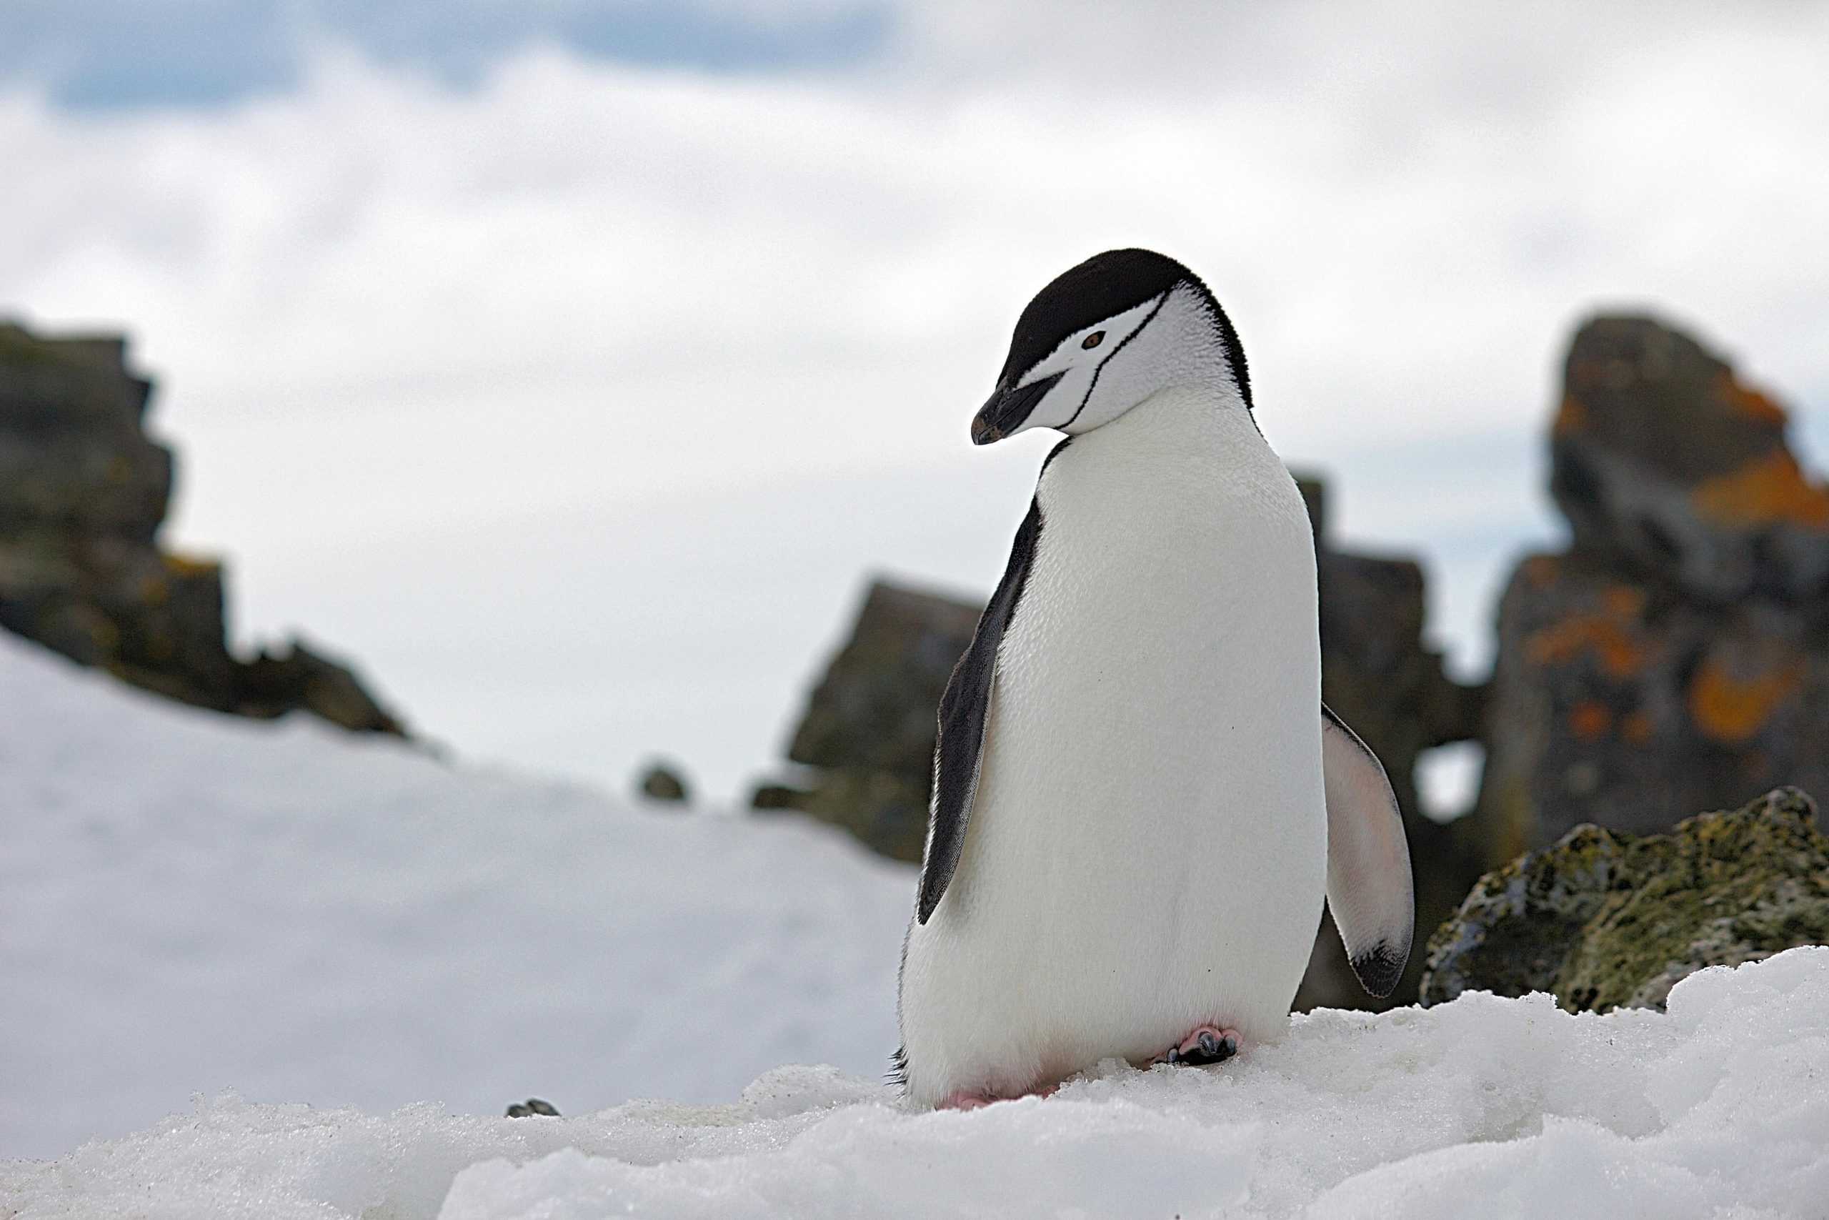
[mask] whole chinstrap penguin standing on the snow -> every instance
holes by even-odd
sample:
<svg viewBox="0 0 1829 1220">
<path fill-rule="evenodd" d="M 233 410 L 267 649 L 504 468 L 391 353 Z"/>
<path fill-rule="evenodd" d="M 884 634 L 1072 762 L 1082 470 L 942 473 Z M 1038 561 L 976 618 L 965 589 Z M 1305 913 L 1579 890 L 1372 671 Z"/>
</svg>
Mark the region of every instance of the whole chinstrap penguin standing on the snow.
<svg viewBox="0 0 1829 1220">
<path fill-rule="evenodd" d="M 1385 768 L 1321 702 L 1315 545 L 1246 355 L 1180 262 L 1022 309 L 971 441 L 1066 433 L 938 712 L 902 953 L 916 1107 L 1278 1037 L 1322 900 L 1361 984 L 1410 953 Z"/>
</svg>

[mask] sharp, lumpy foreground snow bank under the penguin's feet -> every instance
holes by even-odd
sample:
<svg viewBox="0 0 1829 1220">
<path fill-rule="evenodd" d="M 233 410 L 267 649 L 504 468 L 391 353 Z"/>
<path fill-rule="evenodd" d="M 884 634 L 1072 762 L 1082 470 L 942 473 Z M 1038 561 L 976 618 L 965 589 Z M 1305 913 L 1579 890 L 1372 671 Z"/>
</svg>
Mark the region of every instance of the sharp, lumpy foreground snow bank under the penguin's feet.
<svg viewBox="0 0 1829 1220">
<path fill-rule="evenodd" d="M 390 1118 L 234 1097 L 0 1171 L 0 1216 L 1829 1216 L 1829 947 L 1670 1011 L 1469 993 L 1317 1011 L 1218 1068 L 905 1110 L 830 1068 L 721 1107 Z"/>
</svg>

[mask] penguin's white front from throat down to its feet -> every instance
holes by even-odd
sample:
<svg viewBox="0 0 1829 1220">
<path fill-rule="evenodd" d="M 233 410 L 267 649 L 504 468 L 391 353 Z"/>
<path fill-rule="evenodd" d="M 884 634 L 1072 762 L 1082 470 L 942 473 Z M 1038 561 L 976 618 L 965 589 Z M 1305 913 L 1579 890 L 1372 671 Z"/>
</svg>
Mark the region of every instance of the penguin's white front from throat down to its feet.
<svg viewBox="0 0 1829 1220">
<path fill-rule="evenodd" d="M 902 979 L 909 1092 L 1011 1096 L 1200 1024 L 1277 1037 L 1326 883 L 1308 518 L 1167 391 L 1043 476 L 964 852 Z"/>
</svg>

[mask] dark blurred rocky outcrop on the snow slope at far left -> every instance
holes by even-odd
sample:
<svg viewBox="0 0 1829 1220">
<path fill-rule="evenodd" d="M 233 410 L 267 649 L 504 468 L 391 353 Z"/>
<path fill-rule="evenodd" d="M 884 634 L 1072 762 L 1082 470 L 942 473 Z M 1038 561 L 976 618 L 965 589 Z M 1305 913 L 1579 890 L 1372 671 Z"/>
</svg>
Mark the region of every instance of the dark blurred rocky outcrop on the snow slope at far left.
<svg viewBox="0 0 1829 1220">
<path fill-rule="evenodd" d="M 223 629 L 223 569 L 159 547 L 172 454 L 121 338 L 0 324 L 0 627 L 183 702 L 364 732 L 401 722 L 296 640 L 252 660 Z"/>
</svg>

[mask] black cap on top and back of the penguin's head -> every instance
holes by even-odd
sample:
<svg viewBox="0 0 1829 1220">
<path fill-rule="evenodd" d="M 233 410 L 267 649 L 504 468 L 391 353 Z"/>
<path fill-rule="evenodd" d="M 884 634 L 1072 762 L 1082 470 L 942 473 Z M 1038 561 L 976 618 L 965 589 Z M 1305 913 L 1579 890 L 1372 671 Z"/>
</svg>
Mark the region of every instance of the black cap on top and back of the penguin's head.
<svg viewBox="0 0 1829 1220">
<path fill-rule="evenodd" d="M 1094 254 L 1077 267 L 1070 267 L 1055 276 L 1048 287 L 1035 293 L 1035 300 L 1022 309 L 1017 318 L 1015 335 L 1010 337 L 1010 355 L 1004 359 L 1004 371 L 999 384 L 1010 386 L 1028 371 L 1037 360 L 1061 346 L 1068 335 L 1086 329 L 1094 322 L 1141 305 L 1161 296 L 1178 284 L 1185 284 L 1213 311 L 1220 346 L 1225 360 L 1238 380 L 1238 393 L 1251 408 L 1251 379 L 1246 373 L 1246 353 L 1238 344 L 1238 333 L 1231 318 L 1220 309 L 1207 285 L 1193 271 L 1156 251 L 1105 251 Z"/>
</svg>

